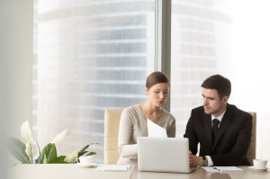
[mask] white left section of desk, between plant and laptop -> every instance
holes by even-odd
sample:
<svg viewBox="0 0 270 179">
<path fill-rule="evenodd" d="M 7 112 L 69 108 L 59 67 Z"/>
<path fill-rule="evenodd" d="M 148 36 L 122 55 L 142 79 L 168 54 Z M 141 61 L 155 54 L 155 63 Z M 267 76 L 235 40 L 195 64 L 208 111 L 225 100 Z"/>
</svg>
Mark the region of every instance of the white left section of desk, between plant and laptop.
<svg viewBox="0 0 270 179">
<path fill-rule="evenodd" d="M 96 167 L 80 167 L 73 164 L 17 165 L 9 171 L 9 179 L 130 179 L 129 172 L 102 172 Z"/>
</svg>

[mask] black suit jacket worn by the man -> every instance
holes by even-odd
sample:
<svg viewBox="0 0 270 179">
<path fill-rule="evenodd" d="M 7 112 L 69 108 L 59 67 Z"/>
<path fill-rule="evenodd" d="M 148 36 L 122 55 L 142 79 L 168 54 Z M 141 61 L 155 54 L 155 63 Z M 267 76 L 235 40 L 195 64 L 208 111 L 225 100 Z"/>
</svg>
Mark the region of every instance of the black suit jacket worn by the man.
<svg viewBox="0 0 270 179">
<path fill-rule="evenodd" d="M 252 116 L 227 104 L 215 141 L 211 137 L 211 114 L 203 106 L 193 109 L 186 125 L 184 138 L 189 139 L 193 155 L 210 156 L 214 166 L 250 166 L 247 150 L 252 135 Z"/>
</svg>

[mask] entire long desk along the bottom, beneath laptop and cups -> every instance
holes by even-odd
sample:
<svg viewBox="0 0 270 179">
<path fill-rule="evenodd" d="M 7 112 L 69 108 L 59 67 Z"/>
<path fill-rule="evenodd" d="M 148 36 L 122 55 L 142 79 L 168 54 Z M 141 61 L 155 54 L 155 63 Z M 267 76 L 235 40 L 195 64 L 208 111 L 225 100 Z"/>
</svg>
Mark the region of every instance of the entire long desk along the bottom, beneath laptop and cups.
<svg viewBox="0 0 270 179">
<path fill-rule="evenodd" d="M 196 168 L 191 174 L 139 172 L 131 166 L 129 172 L 100 172 L 92 168 L 81 168 L 72 164 L 17 165 L 10 169 L 9 179 L 270 179 L 270 170 L 255 172 L 247 166 L 239 166 L 245 172 L 207 173 Z"/>
</svg>

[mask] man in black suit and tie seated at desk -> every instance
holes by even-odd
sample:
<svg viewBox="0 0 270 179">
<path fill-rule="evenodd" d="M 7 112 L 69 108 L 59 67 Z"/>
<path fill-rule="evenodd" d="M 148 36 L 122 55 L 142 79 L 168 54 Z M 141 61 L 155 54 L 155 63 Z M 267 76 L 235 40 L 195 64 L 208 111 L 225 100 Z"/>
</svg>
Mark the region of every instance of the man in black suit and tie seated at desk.
<svg viewBox="0 0 270 179">
<path fill-rule="evenodd" d="M 229 79 L 220 75 L 202 83 L 203 106 L 193 109 L 184 134 L 190 166 L 250 166 L 252 116 L 228 103 L 230 91 Z M 200 157 L 195 156 L 198 143 Z"/>
</svg>

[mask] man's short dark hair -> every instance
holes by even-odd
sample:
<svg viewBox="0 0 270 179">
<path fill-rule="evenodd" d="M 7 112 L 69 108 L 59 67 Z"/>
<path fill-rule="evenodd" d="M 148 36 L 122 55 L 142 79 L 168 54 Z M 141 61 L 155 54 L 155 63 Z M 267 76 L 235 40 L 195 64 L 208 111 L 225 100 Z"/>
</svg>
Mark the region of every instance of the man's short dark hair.
<svg viewBox="0 0 270 179">
<path fill-rule="evenodd" d="M 220 99 L 226 95 L 229 97 L 229 94 L 231 92 L 231 85 L 229 79 L 220 75 L 208 77 L 203 81 L 201 86 L 206 89 L 217 90 Z"/>
</svg>

